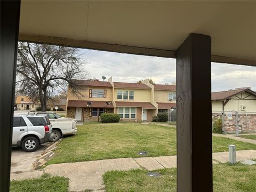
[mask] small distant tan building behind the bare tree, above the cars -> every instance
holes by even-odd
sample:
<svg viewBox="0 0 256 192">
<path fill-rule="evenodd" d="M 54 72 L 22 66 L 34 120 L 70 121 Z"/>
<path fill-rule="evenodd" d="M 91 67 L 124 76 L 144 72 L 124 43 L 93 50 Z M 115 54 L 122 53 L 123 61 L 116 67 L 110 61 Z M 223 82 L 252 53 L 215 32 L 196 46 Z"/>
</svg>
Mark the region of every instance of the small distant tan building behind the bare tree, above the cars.
<svg viewBox="0 0 256 192">
<path fill-rule="evenodd" d="M 33 102 L 26 95 L 17 95 L 14 106 L 17 107 L 18 110 L 36 110 L 39 104 Z"/>
</svg>

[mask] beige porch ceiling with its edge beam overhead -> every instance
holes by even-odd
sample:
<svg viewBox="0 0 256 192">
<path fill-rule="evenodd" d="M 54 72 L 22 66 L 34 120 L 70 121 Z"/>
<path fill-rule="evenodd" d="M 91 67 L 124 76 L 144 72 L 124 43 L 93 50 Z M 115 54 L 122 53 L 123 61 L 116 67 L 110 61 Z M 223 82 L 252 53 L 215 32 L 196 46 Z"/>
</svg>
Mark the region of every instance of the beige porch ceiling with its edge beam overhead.
<svg viewBox="0 0 256 192">
<path fill-rule="evenodd" d="M 175 58 L 190 33 L 212 61 L 256 66 L 255 1 L 21 1 L 23 41 Z"/>
</svg>

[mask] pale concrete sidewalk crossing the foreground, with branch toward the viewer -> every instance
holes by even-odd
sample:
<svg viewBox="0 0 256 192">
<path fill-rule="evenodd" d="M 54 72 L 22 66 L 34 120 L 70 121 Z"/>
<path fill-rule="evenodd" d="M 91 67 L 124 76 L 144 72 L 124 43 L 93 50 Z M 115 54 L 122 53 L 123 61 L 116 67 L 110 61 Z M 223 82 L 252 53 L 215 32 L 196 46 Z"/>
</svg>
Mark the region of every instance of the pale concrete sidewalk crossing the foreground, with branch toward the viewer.
<svg viewBox="0 0 256 192">
<path fill-rule="evenodd" d="M 256 150 L 236 151 L 237 161 L 256 158 Z M 226 163 L 228 152 L 213 153 L 213 163 Z M 52 164 L 44 170 L 11 173 L 11 180 L 39 177 L 43 173 L 69 178 L 70 191 L 85 189 L 104 191 L 102 175 L 106 171 L 131 169 L 157 170 L 176 167 L 176 156 L 104 159 L 99 161 Z"/>
</svg>

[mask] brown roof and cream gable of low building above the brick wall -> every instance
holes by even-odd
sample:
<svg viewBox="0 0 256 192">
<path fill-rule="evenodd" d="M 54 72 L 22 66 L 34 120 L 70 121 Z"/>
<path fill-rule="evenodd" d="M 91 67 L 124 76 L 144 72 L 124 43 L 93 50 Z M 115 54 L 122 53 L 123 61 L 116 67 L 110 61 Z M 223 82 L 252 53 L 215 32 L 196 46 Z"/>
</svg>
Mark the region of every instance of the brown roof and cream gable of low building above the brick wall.
<svg viewBox="0 0 256 192">
<path fill-rule="evenodd" d="M 212 111 L 256 112 L 256 92 L 251 87 L 213 92 Z"/>
</svg>

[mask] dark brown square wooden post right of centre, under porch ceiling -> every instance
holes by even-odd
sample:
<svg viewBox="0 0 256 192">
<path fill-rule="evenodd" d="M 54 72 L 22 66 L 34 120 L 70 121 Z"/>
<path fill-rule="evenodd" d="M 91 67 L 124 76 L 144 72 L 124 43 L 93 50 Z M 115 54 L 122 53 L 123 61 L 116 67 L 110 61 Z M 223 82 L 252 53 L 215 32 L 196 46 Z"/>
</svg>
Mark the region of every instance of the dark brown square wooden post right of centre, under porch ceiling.
<svg viewBox="0 0 256 192">
<path fill-rule="evenodd" d="M 190 34 L 177 50 L 177 191 L 211 192 L 211 37 Z"/>
</svg>

